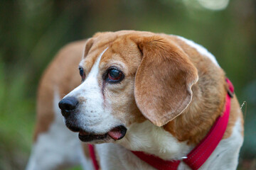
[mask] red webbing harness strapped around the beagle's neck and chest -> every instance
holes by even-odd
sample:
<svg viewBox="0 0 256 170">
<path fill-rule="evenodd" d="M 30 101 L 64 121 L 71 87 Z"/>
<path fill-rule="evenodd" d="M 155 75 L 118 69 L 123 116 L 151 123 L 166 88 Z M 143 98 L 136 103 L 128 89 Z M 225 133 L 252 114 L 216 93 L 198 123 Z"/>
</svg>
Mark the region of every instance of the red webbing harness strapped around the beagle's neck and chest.
<svg viewBox="0 0 256 170">
<path fill-rule="evenodd" d="M 229 90 L 226 95 L 225 111 L 223 115 L 220 115 L 213 127 L 210 129 L 206 137 L 186 156 L 186 159 L 182 161 L 185 162 L 191 169 L 199 169 L 204 162 L 210 157 L 215 148 L 218 146 L 220 140 L 223 138 L 225 130 L 228 125 L 228 118 L 230 115 L 230 98 L 233 97 L 234 87 L 229 79 L 226 79 Z M 92 145 L 89 145 L 90 155 L 92 157 L 92 162 L 95 166 L 95 170 L 99 169 L 97 161 L 95 159 L 95 152 Z M 181 160 L 166 161 L 154 155 L 145 154 L 144 152 L 132 151 L 139 159 L 142 159 L 147 164 L 150 164 L 156 169 L 161 170 L 176 170 Z"/>
</svg>

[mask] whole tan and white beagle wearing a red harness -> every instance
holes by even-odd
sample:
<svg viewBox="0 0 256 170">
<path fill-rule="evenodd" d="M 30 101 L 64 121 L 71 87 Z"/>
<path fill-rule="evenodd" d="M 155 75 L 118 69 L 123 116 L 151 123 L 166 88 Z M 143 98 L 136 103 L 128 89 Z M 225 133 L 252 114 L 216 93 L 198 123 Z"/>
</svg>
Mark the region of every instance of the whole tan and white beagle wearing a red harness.
<svg viewBox="0 0 256 170">
<path fill-rule="evenodd" d="M 37 104 L 27 169 L 238 166 L 233 86 L 210 52 L 176 35 L 122 30 L 73 42 L 44 73 Z"/>
</svg>

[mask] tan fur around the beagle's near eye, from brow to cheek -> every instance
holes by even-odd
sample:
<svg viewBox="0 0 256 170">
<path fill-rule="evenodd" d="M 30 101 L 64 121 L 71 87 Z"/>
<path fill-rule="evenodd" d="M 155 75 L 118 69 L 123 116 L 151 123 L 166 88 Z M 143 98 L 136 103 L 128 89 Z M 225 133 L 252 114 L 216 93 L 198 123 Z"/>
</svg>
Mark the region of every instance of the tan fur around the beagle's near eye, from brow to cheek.
<svg viewBox="0 0 256 170">
<path fill-rule="evenodd" d="M 112 109 L 112 115 L 126 125 L 146 120 L 137 108 L 134 98 L 134 77 L 140 60 L 137 45 L 129 38 L 121 36 L 111 42 L 100 61 L 100 75 L 105 74 L 110 67 L 116 67 L 124 73 L 125 77 L 120 83 L 104 83 L 104 94 L 106 103 Z M 100 81 L 100 84 L 103 82 Z"/>
</svg>

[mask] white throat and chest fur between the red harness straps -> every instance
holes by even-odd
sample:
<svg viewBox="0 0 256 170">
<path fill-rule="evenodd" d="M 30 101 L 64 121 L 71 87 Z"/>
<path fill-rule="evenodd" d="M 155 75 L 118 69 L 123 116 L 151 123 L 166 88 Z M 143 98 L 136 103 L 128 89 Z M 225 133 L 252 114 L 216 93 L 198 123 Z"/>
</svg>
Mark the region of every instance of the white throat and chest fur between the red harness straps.
<svg viewBox="0 0 256 170">
<path fill-rule="evenodd" d="M 127 130 L 127 135 L 117 144 L 96 145 L 102 170 L 154 169 L 130 150 L 155 154 L 162 159 L 182 159 L 192 149 L 186 142 L 178 142 L 169 132 L 148 120 L 132 125 Z"/>
</svg>

